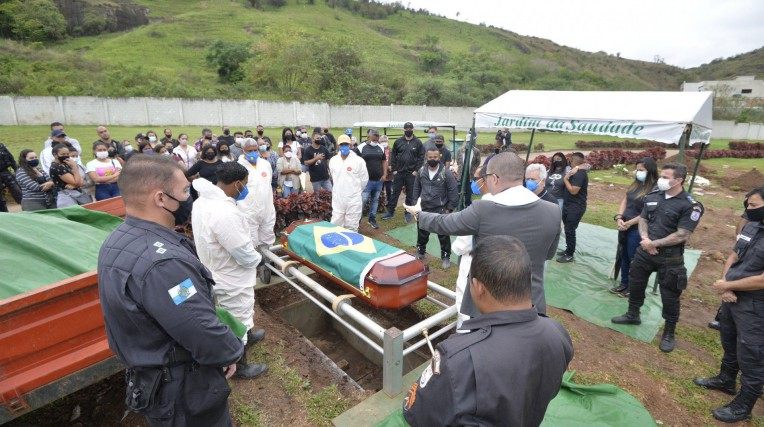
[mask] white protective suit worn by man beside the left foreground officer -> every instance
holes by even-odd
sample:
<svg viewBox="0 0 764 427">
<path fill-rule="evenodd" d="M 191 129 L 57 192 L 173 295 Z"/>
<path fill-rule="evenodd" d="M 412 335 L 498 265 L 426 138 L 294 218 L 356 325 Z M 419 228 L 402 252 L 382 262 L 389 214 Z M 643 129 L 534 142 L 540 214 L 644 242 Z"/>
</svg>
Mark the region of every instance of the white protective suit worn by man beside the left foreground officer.
<svg viewBox="0 0 764 427">
<path fill-rule="evenodd" d="M 199 260 L 212 272 L 218 304 L 243 323 L 254 327 L 255 280 L 262 259 L 255 250 L 244 214 L 234 199 L 206 179 L 195 179 L 199 192 L 191 211 L 194 244 Z M 246 344 L 247 336 L 244 335 Z"/>
</svg>

